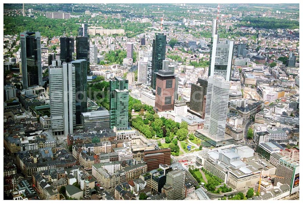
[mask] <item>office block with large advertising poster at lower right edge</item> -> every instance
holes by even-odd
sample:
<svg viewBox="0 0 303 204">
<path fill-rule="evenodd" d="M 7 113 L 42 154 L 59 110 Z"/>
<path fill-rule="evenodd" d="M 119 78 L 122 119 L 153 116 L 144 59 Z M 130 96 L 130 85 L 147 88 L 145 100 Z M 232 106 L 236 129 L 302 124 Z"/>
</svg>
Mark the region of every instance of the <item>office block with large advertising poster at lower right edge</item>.
<svg viewBox="0 0 303 204">
<path fill-rule="evenodd" d="M 296 160 L 292 160 L 289 157 L 282 157 L 279 160 L 276 169 L 276 175 L 274 185 L 277 183 L 288 184 L 290 186 L 290 194 L 299 191 L 299 173 L 300 164 Z"/>
</svg>

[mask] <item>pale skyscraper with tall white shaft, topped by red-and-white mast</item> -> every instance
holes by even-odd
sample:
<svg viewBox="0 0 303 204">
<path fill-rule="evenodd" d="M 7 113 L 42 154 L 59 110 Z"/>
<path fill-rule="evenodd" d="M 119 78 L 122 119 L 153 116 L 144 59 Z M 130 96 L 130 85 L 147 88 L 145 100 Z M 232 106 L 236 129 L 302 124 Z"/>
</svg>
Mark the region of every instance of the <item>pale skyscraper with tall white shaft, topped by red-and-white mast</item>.
<svg viewBox="0 0 303 204">
<path fill-rule="evenodd" d="M 225 44 L 219 43 L 217 24 L 218 20 L 214 19 L 211 33 L 208 76 L 221 76 L 226 81 L 229 81 L 234 41 L 226 41 Z"/>
</svg>

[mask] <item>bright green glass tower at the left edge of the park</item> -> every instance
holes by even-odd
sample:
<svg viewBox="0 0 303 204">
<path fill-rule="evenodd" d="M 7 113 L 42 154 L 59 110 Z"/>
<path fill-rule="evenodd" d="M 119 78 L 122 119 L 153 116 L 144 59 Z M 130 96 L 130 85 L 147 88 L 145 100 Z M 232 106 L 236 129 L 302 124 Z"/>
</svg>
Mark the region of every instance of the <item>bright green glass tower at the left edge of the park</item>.
<svg viewBox="0 0 303 204">
<path fill-rule="evenodd" d="M 128 80 L 115 77 L 109 81 L 109 119 L 111 129 L 128 128 Z"/>
</svg>

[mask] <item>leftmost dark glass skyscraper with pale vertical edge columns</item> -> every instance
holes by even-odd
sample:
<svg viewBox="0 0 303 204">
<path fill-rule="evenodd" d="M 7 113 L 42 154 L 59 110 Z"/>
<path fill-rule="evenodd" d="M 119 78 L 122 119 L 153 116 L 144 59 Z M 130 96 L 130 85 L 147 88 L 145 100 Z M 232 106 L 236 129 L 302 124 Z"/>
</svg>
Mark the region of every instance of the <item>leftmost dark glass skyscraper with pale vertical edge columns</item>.
<svg viewBox="0 0 303 204">
<path fill-rule="evenodd" d="M 20 33 L 22 88 L 42 86 L 40 32 Z"/>
</svg>

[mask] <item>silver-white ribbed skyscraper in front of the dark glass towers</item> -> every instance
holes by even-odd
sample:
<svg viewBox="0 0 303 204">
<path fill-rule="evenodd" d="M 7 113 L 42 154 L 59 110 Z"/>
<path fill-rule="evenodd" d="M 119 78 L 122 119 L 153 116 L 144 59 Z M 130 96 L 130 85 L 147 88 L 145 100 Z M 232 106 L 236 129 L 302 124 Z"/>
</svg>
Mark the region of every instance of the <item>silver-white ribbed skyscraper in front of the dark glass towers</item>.
<svg viewBox="0 0 303 204">
<path fill-rule="evenodd" d="M 75 66 L 57 60 L 48 70 L 52 132 L 67 136 L 76 125 Z"/>
</svg>

